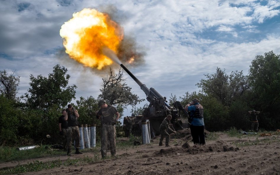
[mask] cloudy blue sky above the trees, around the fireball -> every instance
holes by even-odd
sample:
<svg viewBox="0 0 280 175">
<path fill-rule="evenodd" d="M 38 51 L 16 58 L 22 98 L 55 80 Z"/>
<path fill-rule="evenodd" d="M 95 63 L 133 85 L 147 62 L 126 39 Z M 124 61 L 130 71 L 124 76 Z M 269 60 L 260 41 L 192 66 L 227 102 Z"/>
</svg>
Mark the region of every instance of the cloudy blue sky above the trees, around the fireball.
<svg viewBox="0 0 280 175">
<path fill-rule="evenodd" d="M 247 75 L 255 56 L 280 54 L 280 0 L 0 0 L 0 70 L 20 76 L 18 96 L 30 88 L 31 74 L 48 76 L 59 64 L 68 69 L 68 85 L 78 87 L 76 100 L 97 99 L 106 72 L 69 58 L 59 35 L 84 8 L 109 13 L 124 35 L 134 38 L 146 54 L 143 64 L 129 70 L 167 100 L 198 91 L 196 84 L 217 67 Z M 133 92 L 146 98 L 124 75 Z"/>
</svg>

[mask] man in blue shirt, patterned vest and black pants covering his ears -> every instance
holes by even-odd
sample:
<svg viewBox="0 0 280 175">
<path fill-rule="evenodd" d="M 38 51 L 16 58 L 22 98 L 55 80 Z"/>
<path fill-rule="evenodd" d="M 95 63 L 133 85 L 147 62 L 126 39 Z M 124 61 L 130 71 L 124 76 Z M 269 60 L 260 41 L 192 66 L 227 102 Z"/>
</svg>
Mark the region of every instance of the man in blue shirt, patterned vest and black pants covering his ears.
<svg viewBox="0 0 280 175">
<path fill-rule="evenodd" d="M 186 111 L 190 111 L 191 115 L 189 118 L 191 136 L 193 138 L 193 144 L 205 144 L 204 135 L 204 120 L 203 120 L 203 107 L 199 104 L 197 98 L 193 99 L 192 102 L 185 106 Z"/>
</svg>

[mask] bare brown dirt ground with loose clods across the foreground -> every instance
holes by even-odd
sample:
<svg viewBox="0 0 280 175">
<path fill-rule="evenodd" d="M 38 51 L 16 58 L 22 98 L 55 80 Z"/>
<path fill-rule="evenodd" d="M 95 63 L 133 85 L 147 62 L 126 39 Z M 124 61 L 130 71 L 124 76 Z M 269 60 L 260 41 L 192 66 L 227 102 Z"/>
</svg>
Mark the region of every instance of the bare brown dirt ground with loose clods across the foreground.
<svg viewBox="0 0 280 175">
<path fill-rule="evenodd" d="M 100 160 L 81 166 L 61 166 L 59 168 L 29 172 L 24 174 L 50 175 L 280 175 L 279 135 L 228 137 L 218 133 L 218 139 L 206 141 L 206 145 L 193 145 L 189 129 L 180 131 L 180 139 L 171 135 L 171 147 L 159 146 L 159 137 L 151 144 L 139 145 L 125 150 L 117 149 L 116 158 Z M 260 144 L 236 147 L 232 142 L 246 143 L 258 138 Z M 264 141 L 265 139 L 266 141 Z M 124 141 L 120 138 L 118 141 Z M 263 140 L 263 142 L 262 142 Z M 270 140 L 270 141 L 268 141 Z M 277 140 L 277 141 L 275 141 Z M 180 141 L 182 142 L 180 144 Z M 184 144 L 187 141 L 188 144 Z M 178 144 L 179 145 L 175 145 Z M 184 145 L 182 147 L 182 145 Z M 100 153 L 100 152 L 99 152 Z M 110 151 L 109 151 L 110 154 Z M 94 157 L 94 153 L 72 154 L 71 158 Z M 101 153 L 100 153 L 101 157 Z M 36 159 L 38 161 L 66 160 L 68 156 Z M 34 160 L 1 163 L 0 168 L 16 166 Z"/>
</svg>

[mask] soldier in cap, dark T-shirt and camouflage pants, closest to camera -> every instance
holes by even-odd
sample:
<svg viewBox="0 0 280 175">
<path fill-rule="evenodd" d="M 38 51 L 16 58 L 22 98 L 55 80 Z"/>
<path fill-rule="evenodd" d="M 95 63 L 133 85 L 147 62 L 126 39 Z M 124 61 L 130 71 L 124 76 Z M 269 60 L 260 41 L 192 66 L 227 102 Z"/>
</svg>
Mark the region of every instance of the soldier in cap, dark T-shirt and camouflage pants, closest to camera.
<svg viewBox="0 0 280 175">
<path fill-rule="evenodd" d="M 102 158 L 107 156 L 107 143 L 110 143 L 111 156 L 116 154 L 116 128 L 115 124 L 120 117 L 117 109 L 111 105 L 106 104 L 106 101 L 101 99 L 98 102 L 100 110 L 97 115 L 102 122 L 102 134 L 101 134 L 101 156 Z M 116 117 L 115 117 L 116 115 Z"/>
</svg>

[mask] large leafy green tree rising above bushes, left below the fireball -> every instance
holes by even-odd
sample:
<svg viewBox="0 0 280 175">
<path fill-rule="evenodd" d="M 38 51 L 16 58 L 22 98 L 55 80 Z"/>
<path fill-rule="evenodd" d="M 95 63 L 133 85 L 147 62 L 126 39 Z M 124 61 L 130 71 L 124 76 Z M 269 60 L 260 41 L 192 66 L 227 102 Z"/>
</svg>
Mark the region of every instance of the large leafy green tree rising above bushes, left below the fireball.
<svg viewBox="0 0 280 175">
<path fill-rule="evenodd" d="M 48 77 L 38 75 L 35 78 L 30 75 L 31 88 L 22 96 L 27 106 L 32 109 L 47 109 L 53 104 L 65 107 L 67 103 L 75 99 L 77 86 L 67 86 L 70 75 L 66 72 L 65 67 L 56 65 L 53 67 L 53 73 L 49 73 Z"/>
</svg>

